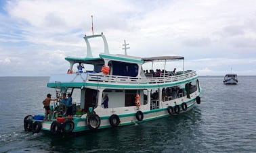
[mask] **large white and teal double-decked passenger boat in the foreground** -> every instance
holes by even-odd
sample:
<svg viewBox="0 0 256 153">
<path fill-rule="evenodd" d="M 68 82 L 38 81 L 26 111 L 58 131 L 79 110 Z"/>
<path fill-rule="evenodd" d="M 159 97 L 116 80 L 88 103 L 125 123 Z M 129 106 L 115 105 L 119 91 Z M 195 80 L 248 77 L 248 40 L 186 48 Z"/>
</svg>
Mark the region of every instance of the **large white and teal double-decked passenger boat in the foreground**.
<svg viewBox="0 0 256 153">
<path fill-rule="evenodd" d="M 104 53 L 92 56 L 90 38 L 102 38 Z M 113 55 L 108 51 L 104 34 L 84 37 L 87 57 L 66 57 L 70 63 L 68 73 L 51 75 L 47 87 L 56 89 L 56 96 L 63 93 L 79 95 L 73 98 L 72 119 L 65 116 L 66 106 L 60 101 L 51 106 L 52 121 L 43 115 L 27 115 L 24 130 L 72 133 L 133 125 L 162 117 L 171 117 L 190 111 L 200 104 L 201 88 L 196 71 L 184 70 L 184 57 L 133 57 Z M 183 70 L 177 73 L 145 73 L 144 64 L 182 60 Z M 75 71 L 78 63 L 93 65 L 93 70 Z M 75 69 L 74 69 L 75 67 Z M 108 97 L 107 100 L 104 97 Z M 108 104 L 104 108 L 103 102 Z M 51 102 L 52 103 L 52 102 Z"/>
</svg>

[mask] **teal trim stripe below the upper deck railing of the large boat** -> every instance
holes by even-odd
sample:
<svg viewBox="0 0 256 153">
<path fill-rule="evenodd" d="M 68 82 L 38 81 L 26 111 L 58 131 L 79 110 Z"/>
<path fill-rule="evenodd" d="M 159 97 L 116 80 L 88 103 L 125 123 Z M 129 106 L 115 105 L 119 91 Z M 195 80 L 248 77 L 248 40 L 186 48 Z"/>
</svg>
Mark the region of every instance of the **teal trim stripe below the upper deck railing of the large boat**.
<svg viewBox="0 0 256 153">
<path fill-rule="evenodd" d="M 141 85 L 141 84 L 102 84 L 102 83 L 88 83 L 88 82 L 62 82 L 62 87 L 74 87 L 74 88 L 81 88 L 84 86 L 85 88 L 87 86 L 93 86 L 93 87 L 104 87 L 104 88 L 159 88 L 159 87 L 167 87 L 167 86 L 176 86 L 178 84 L 184 84 L 185 82 L 190 82 L 192 80 L 196 80 L 198 77 L 185 80 L 182 82 L 177 83 L 165 83 L 165 84 L 148 84 L 148 85 Z M 56 83 L 48 83 L 47 87 L 54 88 L 56 87 Z"/>
</svg>

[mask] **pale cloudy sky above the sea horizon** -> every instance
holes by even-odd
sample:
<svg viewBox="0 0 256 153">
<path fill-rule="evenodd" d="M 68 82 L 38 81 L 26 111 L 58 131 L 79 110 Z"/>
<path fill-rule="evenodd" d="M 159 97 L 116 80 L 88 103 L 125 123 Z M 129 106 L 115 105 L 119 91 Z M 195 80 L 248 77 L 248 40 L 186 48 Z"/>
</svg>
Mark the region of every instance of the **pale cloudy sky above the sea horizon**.
<svg viewBox="0 0 256 153">
<path fill-rule="evenodd" d="M 2 0 L 0 76 L 66 73 L 65 57 L 87 55 L 91 16 L 112 54 L 124 54 L 126 40 L 128 55 L 183 56 L 198 75 L 256 75 L 255 8 L 255 0 Z M 103 53 L 91 43 L 93 56 Z"/>
</svg>

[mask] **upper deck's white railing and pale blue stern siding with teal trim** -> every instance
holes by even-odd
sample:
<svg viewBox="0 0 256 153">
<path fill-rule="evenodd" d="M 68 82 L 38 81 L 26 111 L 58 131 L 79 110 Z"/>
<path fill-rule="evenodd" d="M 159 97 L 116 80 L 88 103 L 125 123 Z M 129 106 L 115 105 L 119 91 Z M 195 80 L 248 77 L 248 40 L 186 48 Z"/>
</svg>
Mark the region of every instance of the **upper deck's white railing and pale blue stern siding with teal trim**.
<svg viewBox="0 0 256 153">
<path fill-rule="evenodd" d="M 168 73 L 167 73 L 168 74 Z M 59 86 L 58 82 L 62 86 L 69 86 L 75 88 L 81 88 L 89 84 L 96 84 L 97 86 L 110 86 L 113 84 L 119 85 L 123 88 L 129 88 L 128 86 L 165 86 L 165 84 L 180 84 L 187 82 L 188 80 L 194 80 L 197 78 L 196 71 L 188 70 L 179 75 L 161 75 L 159 77 L 127 77 L 119 75 L 104 75 L 103 73 L 72 73 L 72 74 L 59 74 L 52 75 L 47 84 L 48 87 L 55 88 Z"/>
</svg>

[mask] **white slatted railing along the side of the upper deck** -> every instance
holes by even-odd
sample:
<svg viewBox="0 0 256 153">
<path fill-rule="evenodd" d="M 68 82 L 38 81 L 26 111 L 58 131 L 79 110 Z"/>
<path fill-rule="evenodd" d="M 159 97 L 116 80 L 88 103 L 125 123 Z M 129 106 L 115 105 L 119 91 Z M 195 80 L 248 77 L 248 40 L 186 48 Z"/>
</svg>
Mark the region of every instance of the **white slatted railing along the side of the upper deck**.
<svg viewBox="0 0 256 153">
<path fill-rule="evenodd" d="M 184 74 L 156 78 L 135 78 L 116 75 L 100 75 L 88 73 L 86 82 L 126 83 L 126 84 L 159 84 L 167 82 L 178 82 L 196 76 L 196 71 L 185 71 Z"/>
</svg>

